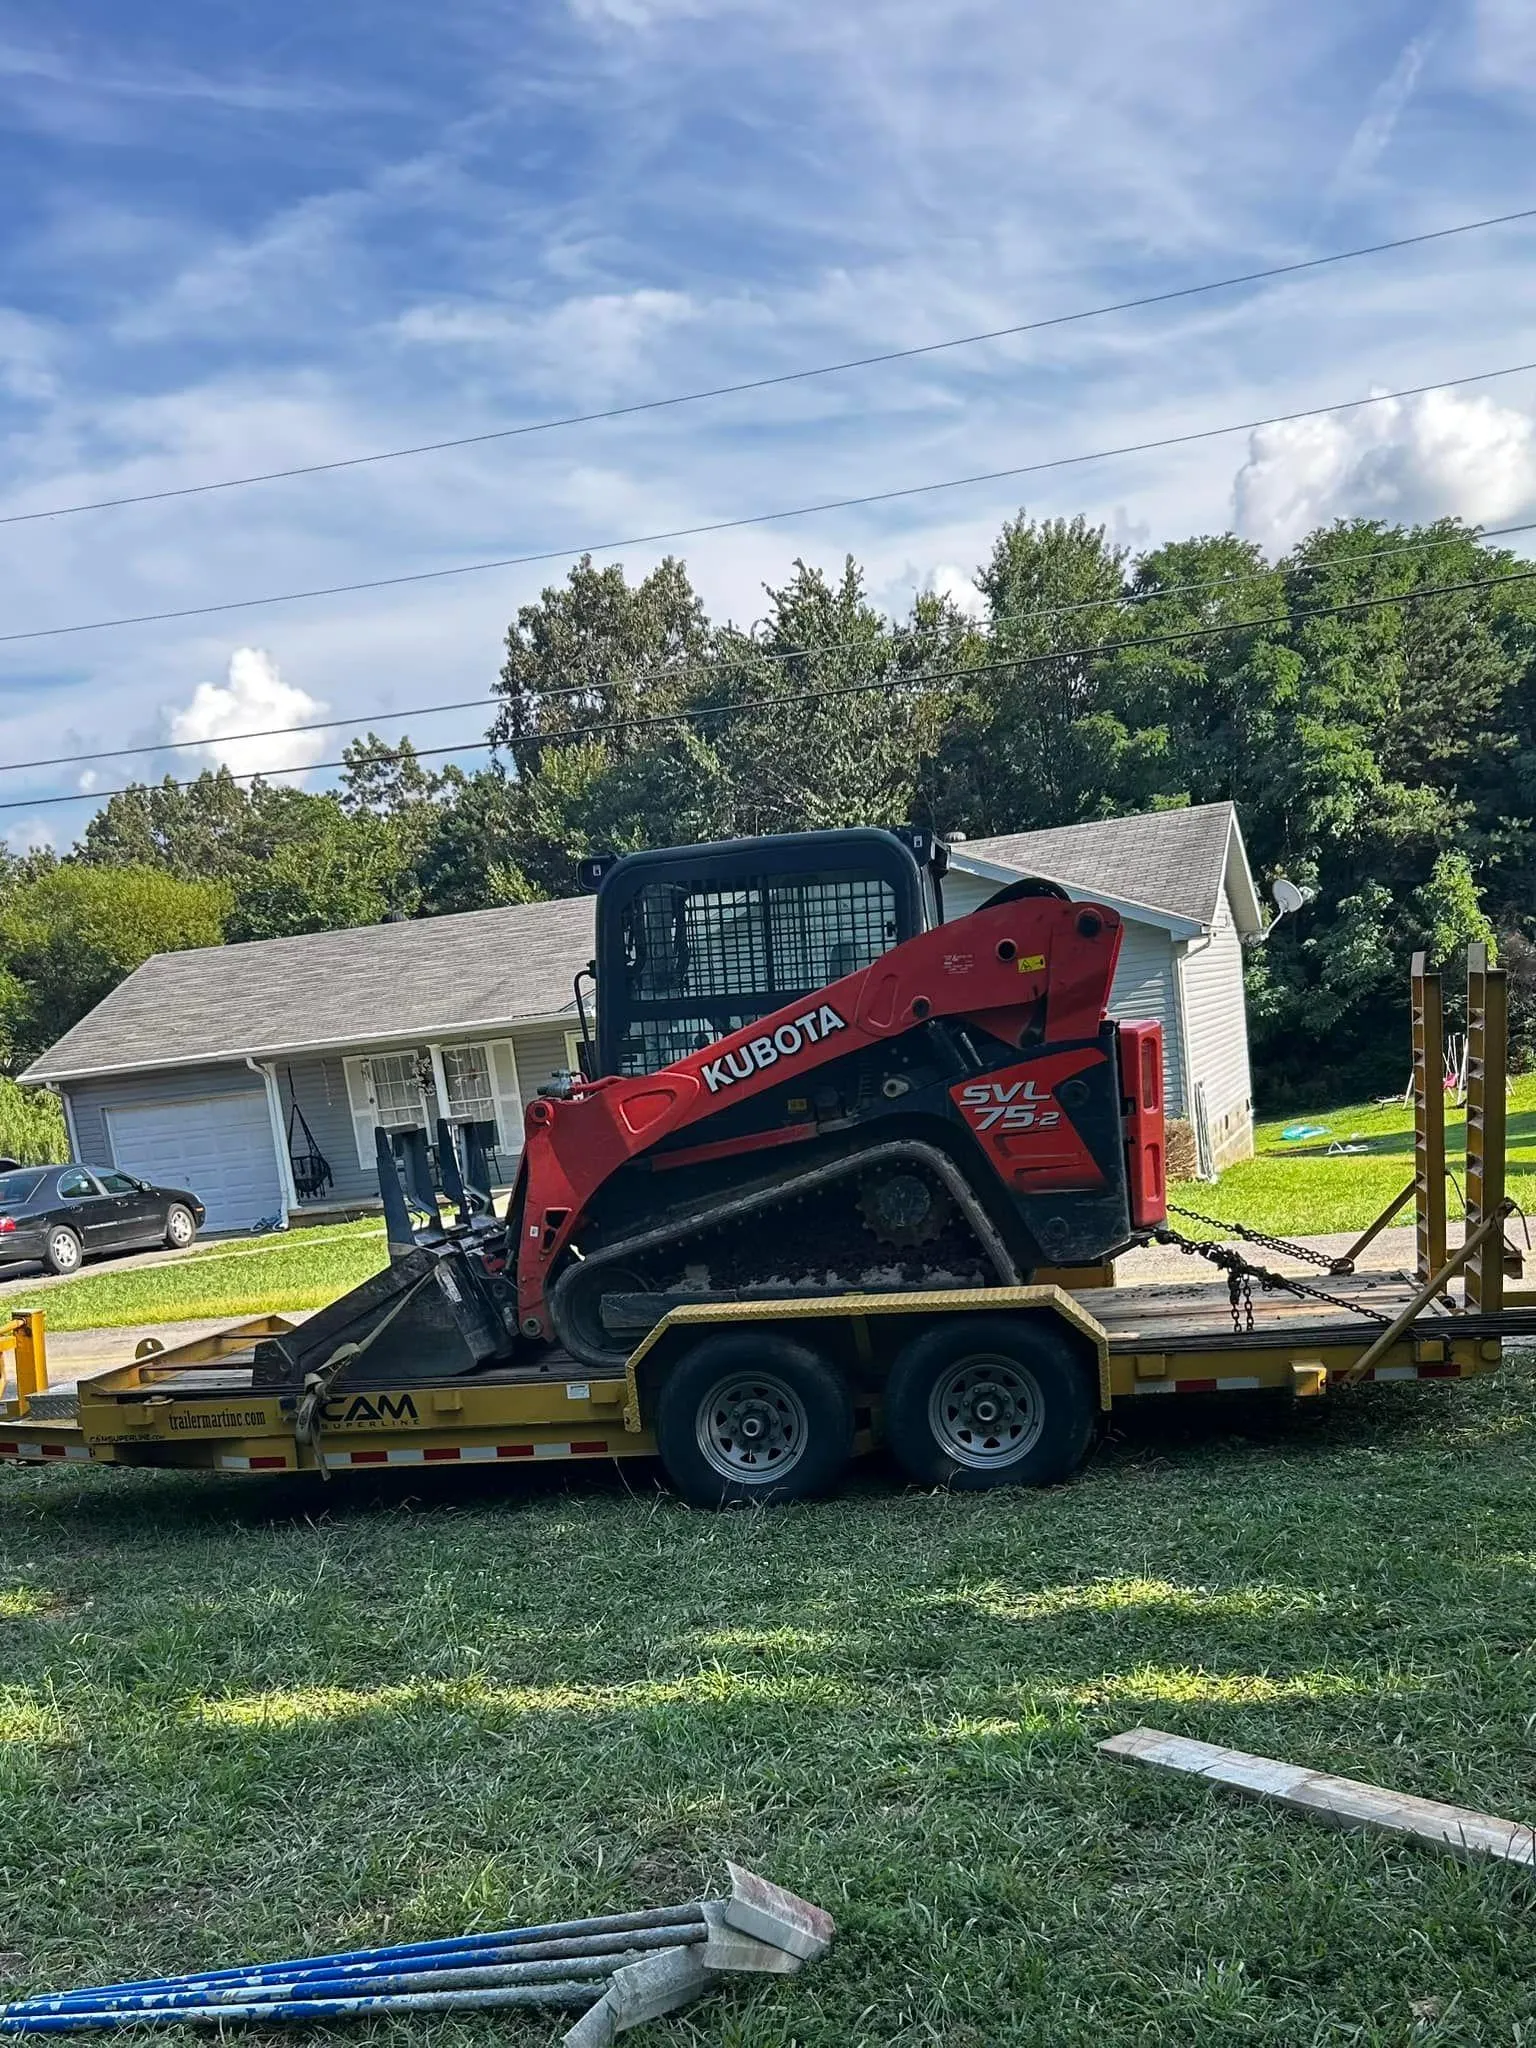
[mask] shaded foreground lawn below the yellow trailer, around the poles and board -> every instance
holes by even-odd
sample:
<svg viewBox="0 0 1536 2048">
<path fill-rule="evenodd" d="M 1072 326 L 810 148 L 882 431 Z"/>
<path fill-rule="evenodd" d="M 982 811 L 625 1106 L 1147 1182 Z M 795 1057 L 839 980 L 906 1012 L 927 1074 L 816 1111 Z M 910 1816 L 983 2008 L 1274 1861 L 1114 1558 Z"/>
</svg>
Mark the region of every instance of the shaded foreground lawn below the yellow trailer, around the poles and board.
<svg viewBox="0 0 1536 2048">
<path fill-rule="evenodd" d="M 1049 1493 L 877 1468 L 741 1516 L 645 1466 L 4 1470 L 0 1997 L 682 1901 L 731 1855 L 840 1942 L 645 2040 L 1530 2042 L 1530 1874 L 1094 1753 L 1151 1722 L 1536 1819 L 1530 1368 L 1137 1430 Z"/>
</svg>

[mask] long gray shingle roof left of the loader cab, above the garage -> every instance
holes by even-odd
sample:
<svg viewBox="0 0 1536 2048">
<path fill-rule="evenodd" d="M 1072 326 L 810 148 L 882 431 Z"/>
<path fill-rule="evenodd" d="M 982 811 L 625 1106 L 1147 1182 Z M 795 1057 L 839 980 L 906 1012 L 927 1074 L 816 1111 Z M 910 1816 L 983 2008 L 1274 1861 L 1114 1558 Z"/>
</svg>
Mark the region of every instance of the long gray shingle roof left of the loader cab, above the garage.
<svg viewBox="0 0 1536 2048">
<path fill-rule="evenodd" d="M 553 1018 L 590 958 L 592 897 L 158 952 L 23 1079 Z"/>
</svg>

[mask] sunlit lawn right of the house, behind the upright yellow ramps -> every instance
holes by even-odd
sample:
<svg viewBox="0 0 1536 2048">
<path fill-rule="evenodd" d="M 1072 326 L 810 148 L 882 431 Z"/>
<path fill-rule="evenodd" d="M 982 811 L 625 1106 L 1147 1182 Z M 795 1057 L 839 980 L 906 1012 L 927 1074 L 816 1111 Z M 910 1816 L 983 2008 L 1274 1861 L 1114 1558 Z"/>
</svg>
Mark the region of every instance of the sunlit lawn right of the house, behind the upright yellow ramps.
<svg viewBox="0 0 1536 2048">
<path fill-rule="evenodd" d="M 1536 1212 L 1536 1075 L 1520 1075 L 1509 1085 L 1509 1194 Z M 1327 1124 L 1329 1137 L 1286 1143 L 1282 1130 L 1296 1124 Z M 1329 1145 L 1362 1141 L 1364 1153 L 1333 1153 Z M 1221 1219 L 1255 1225 L 1280 1237 L 1323 1235 L 1327 1231 L 1364 1231 L 1393 1196 L 1413 1178 L 1413 1112 L 1401 1102 L 1389 1108 L 1354 1104 L 1341 1110 L 1294 1114 L 1260 1122 L 1253 1133 L 1255 1155 L 1229 1165 L 1217 1184 L 1174 1182 L 1169 1200 Z M 1448 1184 L 1448 1212 L 1462 1214 L 1466 1114 L 1446 1106 L 1446 1157 L 1454 1184 Z M 1210 1237 L 1171 1219 L 1192 1237 Z M 1399 1223 L 1413 1223 L 1405 1208 Z M 1516 1225 L 1520 1239 L 1520 1225 Z"/>
</svg>

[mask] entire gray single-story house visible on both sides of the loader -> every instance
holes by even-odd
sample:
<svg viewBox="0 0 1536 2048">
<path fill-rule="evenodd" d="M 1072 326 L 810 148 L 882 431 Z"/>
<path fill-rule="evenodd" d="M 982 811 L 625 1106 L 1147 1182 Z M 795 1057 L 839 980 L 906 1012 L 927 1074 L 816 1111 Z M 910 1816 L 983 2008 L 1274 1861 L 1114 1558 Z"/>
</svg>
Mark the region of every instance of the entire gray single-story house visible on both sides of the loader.
<svg viewBox="0 0 1536 2048">
<path fill-rule="evenodd" d="M 956 842 L 944 911 L 1044 874 L 1124 918 L 1118 1016 L 1159 1018 L 1167 1104 L 1251 1151 L 1241 940 L 1262 926 L 1231 805 Z M 592 899 L 516 903 L 145 961 L 23 1081 L 76 1159 L 193 1188 L 209 1229 L 377 1200 L 375 1128 L 471 1122 L 510 1182 L 522 1112 L 575 1065 Z"/>
</svg>

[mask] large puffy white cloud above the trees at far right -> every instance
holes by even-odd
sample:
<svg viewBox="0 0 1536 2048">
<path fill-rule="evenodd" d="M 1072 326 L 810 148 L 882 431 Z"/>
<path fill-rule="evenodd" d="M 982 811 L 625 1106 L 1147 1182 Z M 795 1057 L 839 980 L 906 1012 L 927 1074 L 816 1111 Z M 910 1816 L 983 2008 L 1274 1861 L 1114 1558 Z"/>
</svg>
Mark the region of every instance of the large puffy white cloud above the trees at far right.
<svg viewBox="0 0 1536 2048">
<path fill-rule="evenodd" d="M 1536 504 L 1536 424 L 1491 397 L 1425 391 L 1249 434 L 1237 530 L 1288 547 L 1333 518 L 1501 520 Z"/>
</svg>

